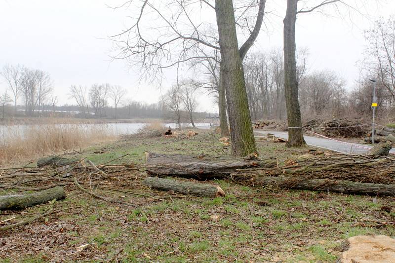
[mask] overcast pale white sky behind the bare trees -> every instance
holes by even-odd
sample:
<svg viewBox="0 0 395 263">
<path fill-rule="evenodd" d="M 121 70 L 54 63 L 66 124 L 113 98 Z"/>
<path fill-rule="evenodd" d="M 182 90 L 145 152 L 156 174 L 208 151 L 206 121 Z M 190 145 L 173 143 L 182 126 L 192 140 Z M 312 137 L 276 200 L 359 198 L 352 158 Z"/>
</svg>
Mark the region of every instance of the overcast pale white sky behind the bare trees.
<svg viewBox="0 0 395 263">
<path fill-rule="evenodd" d="M 395 12 L 395 0 L 365 1 L 371 6 L 362 12 L 369 12 L 369 19 L 353 14 L 351 23 L 344 15 L 346 12 L 340 17 L 333 8 L 328 8 L 326 13 L 331 16 L 303 14 L 297 21 L 297 46 L 309 49 L 309 69 L 331 69 L 348 81 L 349 88 L 358 76 L 356 61 L 363 59 L 363 30 L 369 28 L 375 17 L 388 18 Z M 129 20 L 127 10 L 113 10 L 106 4 L 121 2 L 0 0 L 0 67 L 21 64 L 48 71 L 60 104 L 72 102 L 67 98 L 70 85 L 103 82 L 123 86 L 128 90 L 128 98 L 156 102 L 173 76 L 159 90 L 146 82 L 139 83 L 138 68 L 132 71 L 123 61 L 110 61 L 112 45 L 105 38 L 125 28 Z M 271 12 L 266 18 L 268 27 L 260 34 L 255 51 L 282 48 L 285 4 L 285 0 L 267 1 L 266 11 Z M 0 80 L 0 93 L 4 90 L 5 83 Z M 204 97 L 200 109 L 212 111 L 212 100 Z"/>
</svg>

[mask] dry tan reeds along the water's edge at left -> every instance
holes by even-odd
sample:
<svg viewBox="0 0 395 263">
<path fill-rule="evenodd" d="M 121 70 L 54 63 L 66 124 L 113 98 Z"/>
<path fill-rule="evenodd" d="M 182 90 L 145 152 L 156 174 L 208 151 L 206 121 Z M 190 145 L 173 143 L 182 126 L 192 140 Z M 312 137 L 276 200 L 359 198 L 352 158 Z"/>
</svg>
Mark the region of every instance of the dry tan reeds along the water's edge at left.
<svg viewBox="0 0 395 263">
<path fill-rule="evenodd" d="M 7 126 L 0 141 L 0 165 L 34 160 L 56 152 L 115 139 L 106 125 L 34 125 Z M 1 131 L 0 131 L 1 132 Z"/>
</svg>

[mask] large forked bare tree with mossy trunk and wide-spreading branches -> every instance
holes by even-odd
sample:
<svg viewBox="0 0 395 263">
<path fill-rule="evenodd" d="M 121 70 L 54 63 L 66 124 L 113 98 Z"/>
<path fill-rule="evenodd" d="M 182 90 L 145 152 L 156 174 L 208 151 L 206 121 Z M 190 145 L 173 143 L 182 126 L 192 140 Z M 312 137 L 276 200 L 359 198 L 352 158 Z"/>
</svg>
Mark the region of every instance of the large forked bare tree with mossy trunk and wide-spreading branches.
<svg viewBox="0 0 395 263">
<path fill-rule="evenodd" d="M 256 152 L 241 61 L 260 31 L 265 4 L 266 0 L 248 4 L 240 1 L 240 6 L 234 8 L 232 0 L 215 0 L 215 6 L 212 0 L 167 0 L 160 1 L 160 4 L 144 0 L 137 8 L 134 6 L 139 12 L 132 26 L 113 37 L 118 43 L 119 54 L 116 58 L 126 59 L 132 65 L 143 65 L 145 74 L 156 76 L 165 68 L 177 66 L 182 70 L 182 64 L 206 57 L 199 50 L 220 50 L 220 87 L 226 88 L 232 154 L 240 156 Z M 256 15 L 250 12 L 254 8 L 258 9 Z M 213 10 L 217 17 L 218 33 L 215 32 L 215 25 L 208 21 L 196 21 L 197 17 L 201 17 L 195 15 L 198 11 Z M 151 19 L 147 23 L 155 24 L 150 30 L 142 23 L 147 14 L 150 19 L 158 17 L 158 20 Z M 240 49 L 236 26 L 248 35 Z"/>
</svg>

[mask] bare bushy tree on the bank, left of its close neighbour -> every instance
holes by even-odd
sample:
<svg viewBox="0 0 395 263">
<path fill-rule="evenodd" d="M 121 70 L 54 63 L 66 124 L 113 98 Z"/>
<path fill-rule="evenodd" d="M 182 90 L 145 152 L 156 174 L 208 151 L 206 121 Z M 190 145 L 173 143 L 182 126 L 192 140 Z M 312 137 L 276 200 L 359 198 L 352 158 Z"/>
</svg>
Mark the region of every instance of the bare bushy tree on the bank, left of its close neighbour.
<svg viewBox="0 0 395 263">
<path fill-rule="evenodd" d="M 173 120 L 179 128 L 182 123 L 182 108 L 183 98 L 179 85 L 173 85 L 162 97 L 161 102 L 163 103 L 164 110 L 169 113 L 167 116 Z"/>
</svg>

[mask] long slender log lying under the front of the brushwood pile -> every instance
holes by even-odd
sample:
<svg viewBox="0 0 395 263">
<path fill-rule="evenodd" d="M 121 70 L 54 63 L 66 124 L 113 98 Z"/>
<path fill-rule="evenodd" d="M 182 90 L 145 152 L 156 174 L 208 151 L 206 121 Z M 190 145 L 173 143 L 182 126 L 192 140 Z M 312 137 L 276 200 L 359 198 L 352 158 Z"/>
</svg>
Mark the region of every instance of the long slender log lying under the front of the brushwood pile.
<svg viewBox="0 0 395 263">
<path fill-rule="evenodd" d="M 329 191 L 344 194 L 395 196 L 395 185 L 358 183 L 348 180 L 257 177 L 254 178 L 254 185 L 274 185 L 285 189 Z"/>
</svg>

